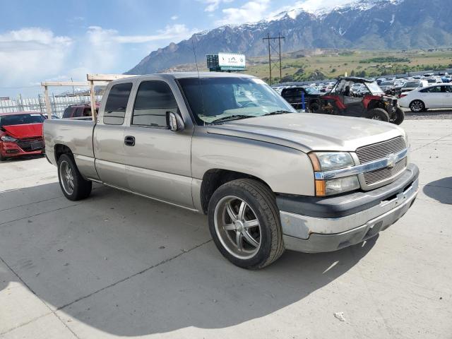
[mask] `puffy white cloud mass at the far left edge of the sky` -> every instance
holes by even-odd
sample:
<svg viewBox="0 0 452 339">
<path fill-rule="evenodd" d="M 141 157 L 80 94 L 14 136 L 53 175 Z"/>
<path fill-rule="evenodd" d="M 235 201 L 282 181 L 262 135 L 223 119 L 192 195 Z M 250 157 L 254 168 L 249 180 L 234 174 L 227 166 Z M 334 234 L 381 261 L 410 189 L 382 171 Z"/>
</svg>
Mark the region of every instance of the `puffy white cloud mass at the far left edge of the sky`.
<svg viewBox="0 0 452 339">
<path fill-rule="evenodd" d="M 57 73 L 71 52 L 70 37 L 51 30 L 22 28 L 0 34 L 0 83 L 25 85 Z"/>
</svg>

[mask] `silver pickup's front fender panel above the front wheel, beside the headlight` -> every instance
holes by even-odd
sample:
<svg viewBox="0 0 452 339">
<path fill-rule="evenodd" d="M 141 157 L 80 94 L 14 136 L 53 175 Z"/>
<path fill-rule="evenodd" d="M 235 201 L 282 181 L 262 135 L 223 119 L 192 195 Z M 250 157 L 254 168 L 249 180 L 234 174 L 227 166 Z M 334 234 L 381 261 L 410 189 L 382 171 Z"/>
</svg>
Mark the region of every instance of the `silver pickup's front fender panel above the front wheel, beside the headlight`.
<svg viewBox="0 0 452 339">
<path fill-rule="evenodd" d="M 283 145 L 236 136 L 195 132 L 191 170 L 203 179 L 209 169 L 257 177 L 275 193 L 314 196 L 314 171 L 306 153 Z"/>
</svg>

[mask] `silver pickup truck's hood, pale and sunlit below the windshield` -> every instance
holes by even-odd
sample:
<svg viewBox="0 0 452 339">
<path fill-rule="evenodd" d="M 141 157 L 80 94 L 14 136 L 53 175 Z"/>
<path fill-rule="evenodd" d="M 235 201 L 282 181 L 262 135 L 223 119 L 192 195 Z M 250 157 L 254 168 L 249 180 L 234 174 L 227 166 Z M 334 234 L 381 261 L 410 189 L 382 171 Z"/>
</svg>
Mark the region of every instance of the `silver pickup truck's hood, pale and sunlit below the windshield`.
<svg viewBox="0 0 452 339">
<path fill-rule="evenodd" d="M 324 114 L 292 113 L 209 125 L 208 133 L 236 136 L 310 152 L 353 152 L 363 145 L 405 136 L 388 122 Z"/>
</svg>

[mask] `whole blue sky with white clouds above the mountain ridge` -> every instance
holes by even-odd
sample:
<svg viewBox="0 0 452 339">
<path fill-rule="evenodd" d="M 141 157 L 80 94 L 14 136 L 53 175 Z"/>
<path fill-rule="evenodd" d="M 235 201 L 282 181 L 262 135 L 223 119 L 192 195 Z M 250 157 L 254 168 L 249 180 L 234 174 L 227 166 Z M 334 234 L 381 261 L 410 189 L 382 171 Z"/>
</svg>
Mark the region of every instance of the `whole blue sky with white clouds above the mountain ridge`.
<svg viewBox="0 0 452 339">
<path fill-rule="evenodd" d="M 0 0 L 0 97 L 37 95 L 40 81 L 123 73 L 194 32 L 339 1 L 347 0 Z"/>
</svg>

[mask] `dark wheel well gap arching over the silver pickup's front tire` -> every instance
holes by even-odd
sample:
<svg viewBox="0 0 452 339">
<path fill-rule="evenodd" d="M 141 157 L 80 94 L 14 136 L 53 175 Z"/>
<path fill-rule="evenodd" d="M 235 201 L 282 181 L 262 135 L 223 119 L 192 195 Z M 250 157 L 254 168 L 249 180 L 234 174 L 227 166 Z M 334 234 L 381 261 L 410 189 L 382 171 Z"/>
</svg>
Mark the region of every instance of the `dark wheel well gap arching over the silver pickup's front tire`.
<svg viewBox="0 0 452 339">
<path fill-rule="evenodd" d="M 253 175 L 234 172 L 227 169 L 209 169 L 203 176 L 203 183 L 201 184 L 201 206 L 203 208 L 203 213 L 207 214 L 210 198 L 213 193 L 223 184 L 227 182 L 232 182 L 236 179 L 255 179 L 268 186 L 266 182 Z M 270 186 L 268 186 L 270 187 Z"/>
</svg>

